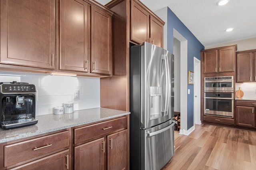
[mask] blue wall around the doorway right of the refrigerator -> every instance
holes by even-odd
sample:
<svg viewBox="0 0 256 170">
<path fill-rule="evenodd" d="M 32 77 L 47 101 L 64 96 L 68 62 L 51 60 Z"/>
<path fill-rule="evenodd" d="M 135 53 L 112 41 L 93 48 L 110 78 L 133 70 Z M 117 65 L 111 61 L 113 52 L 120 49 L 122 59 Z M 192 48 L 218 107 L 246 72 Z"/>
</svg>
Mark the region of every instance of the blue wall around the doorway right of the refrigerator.
<svg viewBox="0 0 256 170">
<path fill-rule="evenodd" d="M 167 50 L 173 53 L 173 29 L 176 29 L 188 41 L 188 68 L 194 71 L 194 57 L 200 60 L 200 51 L 204 46 L 196 39 L 189 29 L 168 8 L 167 10 Z M 188 129 L 194 125 L 194 85 L 188 84 L 190 95 L 188 95 Z"/>
</svg>

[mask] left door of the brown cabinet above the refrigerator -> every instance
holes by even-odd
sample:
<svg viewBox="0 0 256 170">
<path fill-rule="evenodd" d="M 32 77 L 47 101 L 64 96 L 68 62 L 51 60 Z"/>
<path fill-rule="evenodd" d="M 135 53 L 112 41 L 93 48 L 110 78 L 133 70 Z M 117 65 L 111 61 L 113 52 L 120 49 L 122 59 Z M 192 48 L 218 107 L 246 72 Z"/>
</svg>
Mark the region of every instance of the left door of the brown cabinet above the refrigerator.
<svg viewBox="0 0 256 170">
<path fill-rule="evenodd" d="M 133 0 L 131 8 L 131 40 L 142 44 L 149 41 L 149 14 Z"/>
</svg>

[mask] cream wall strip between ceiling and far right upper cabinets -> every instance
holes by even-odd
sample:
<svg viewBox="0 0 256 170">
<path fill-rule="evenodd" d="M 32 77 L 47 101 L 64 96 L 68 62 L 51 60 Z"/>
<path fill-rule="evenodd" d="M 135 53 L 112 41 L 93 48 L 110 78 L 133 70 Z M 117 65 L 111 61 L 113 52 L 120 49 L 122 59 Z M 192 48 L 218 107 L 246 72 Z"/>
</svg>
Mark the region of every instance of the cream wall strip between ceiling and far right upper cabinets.
<svg viewBox="0 0 256 170">
<path fill-rule="evenodd" d="M 212 49 L 216 47 L 223 47 L 223 46 L 234 45 L 234 44 L 237 44 L 237 51 L 246 51 L 246 50 L 256 49 L 256 37 L 250 38 L 250 39 L 243 39 L 240 41 L 233 41 L 229 43 L 218 44 L 218 45 L 210 45 L 210 46 L 204 47 L 204 49 Z"/>
</svg>

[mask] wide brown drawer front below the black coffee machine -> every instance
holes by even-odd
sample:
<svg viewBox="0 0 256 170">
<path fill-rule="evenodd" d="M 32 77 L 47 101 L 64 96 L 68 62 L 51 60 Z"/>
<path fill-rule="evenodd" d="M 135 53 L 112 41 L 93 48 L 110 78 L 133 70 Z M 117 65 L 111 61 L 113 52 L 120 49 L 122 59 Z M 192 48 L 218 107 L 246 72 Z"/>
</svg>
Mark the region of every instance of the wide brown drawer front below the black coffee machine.
<svg viewBox="0 0 256 170">
<path fill-rule="evenodd" d="M 69 146 L 69 131 L 4 146 L 4 166 Z"/>
</svg>

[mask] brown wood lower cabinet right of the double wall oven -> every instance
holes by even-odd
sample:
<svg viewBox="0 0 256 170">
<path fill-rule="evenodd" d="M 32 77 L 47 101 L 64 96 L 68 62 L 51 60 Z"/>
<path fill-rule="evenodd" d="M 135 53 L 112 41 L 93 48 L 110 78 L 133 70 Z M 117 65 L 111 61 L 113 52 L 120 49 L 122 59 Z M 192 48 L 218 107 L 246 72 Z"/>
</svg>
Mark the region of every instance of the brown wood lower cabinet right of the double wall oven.
<svg viewBox="0 0 256 170">
<path fill-rule="evenodd" d="M 255 126 L 256 101 L 236 101 L 236 125 L 244 127 Z"/>
</svg>

